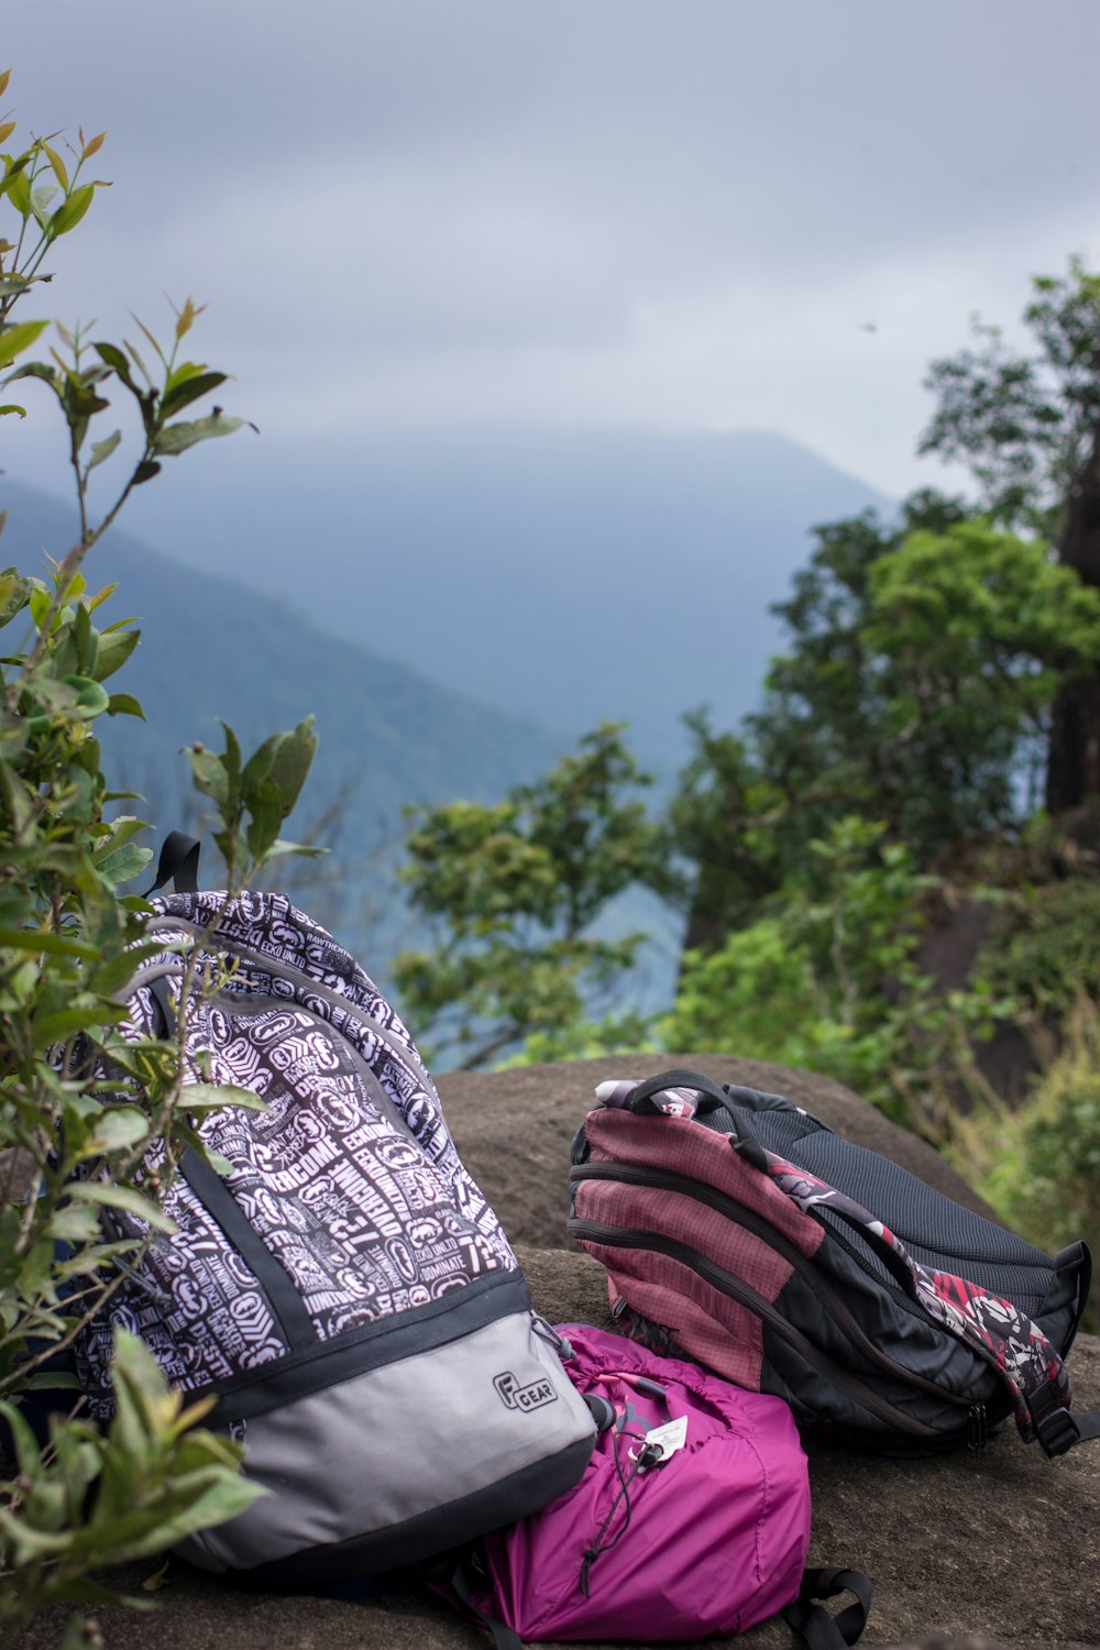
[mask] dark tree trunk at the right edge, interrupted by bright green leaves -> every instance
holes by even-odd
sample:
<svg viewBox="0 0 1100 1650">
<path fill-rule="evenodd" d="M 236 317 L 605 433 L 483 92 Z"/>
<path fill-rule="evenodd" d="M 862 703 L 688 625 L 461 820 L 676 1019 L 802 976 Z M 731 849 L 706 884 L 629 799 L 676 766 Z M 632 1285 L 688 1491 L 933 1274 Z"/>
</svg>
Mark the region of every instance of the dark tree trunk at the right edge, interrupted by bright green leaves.
<svg viewBox="0 0 1100 1650">
<path fill-rule="evenodd" d="M 1059 559 L 1100 589 L 1100 424 L 1069 500 Z M 1047 808 L 1062 813 L 1100 795 L 1100 670 L 1062 688 L 1054 701 L 1047 751 Z"/>
</svg>

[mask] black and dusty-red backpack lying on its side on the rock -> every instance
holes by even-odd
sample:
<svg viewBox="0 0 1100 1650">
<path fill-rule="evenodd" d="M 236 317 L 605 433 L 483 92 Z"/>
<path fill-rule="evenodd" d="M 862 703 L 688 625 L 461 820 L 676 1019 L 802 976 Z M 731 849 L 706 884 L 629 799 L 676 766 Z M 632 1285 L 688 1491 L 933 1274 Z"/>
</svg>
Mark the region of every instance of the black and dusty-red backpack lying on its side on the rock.
<svg viewBox="0 0 1100 1650">
<path fill-rule="evenodd" d="M 1049 1257 L 777 1094 L 691 1071 L 605 1082 L 572 1148 L 572 1238 L 622 1332 L 889 1454 L 1047 1455 L 1100 1436 L 1064 1358 L 1090 1257 Z"/>
</svg>

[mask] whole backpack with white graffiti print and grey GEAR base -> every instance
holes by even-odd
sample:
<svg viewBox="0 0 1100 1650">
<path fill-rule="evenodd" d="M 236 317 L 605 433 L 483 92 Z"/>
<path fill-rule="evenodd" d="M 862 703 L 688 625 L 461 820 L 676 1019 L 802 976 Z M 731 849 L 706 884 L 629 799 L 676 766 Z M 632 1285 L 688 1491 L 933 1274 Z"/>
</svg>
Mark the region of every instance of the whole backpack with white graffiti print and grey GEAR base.
<svg viewBox="0 0 1100 1650">
<path fill-rule="evenodd" d="M 241 1439 L 246 1475 L 274 1492 L 178 1551 L 327 1586 L 546 1505 L 581 1477 L 594 1426 L 401 1020 L 285 898 L 152 904 L 165 950 L 134 980 L 124 1035 L 176 1023 L 178 942 L 198 940 L 229 974 L 190 992 L 186 1081 L 266 1101 L 204 1114 L 228 1173 L 183 1155 L 165 1201 L 178 1231 L 78 1346 L 106 1417 L 112 1327 L 140 1335 L 175 1386 L 216 1394 L 204 1424 Z"/>
</svg>

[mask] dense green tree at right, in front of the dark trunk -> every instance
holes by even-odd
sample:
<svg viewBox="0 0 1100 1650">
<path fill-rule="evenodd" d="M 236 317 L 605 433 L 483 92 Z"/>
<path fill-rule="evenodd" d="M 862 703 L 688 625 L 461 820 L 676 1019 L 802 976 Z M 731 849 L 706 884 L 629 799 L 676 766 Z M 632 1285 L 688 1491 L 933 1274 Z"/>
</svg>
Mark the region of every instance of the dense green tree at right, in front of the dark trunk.
<svg viewBox="0 0 1100 1650">
<path fill-rule="evenodd" d="M 877 820 L 927 870 L 960 838 L 1016 828 L 1021 762 L 1059 691 L 1100 660 L 1100 594 L 1037 540 L 917 493 L 897 528 L 818 528 L 777 607 L 790 647 L 740 736 L 689 723 L 696 754 L 671 805 L 698 866 L 688 945 L 752 917 L 838 820 Z"/>
</svg>

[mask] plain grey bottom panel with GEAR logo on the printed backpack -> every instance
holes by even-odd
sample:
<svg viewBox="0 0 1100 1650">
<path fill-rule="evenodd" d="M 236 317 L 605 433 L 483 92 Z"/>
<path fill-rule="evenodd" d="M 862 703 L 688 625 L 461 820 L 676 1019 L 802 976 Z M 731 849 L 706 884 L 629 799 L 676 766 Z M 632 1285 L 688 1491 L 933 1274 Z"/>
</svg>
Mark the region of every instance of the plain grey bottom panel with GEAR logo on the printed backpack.
<svg viewBox="0 0 1100 1650">
<path fill-rule="evenodd" d="M 528 1312 L 251 1417 L 269 1493 L 180 1543 L 203 1569 L 292 1586 L 419 1563 L 569 1488 L 594 1426 Z M 544 1493 L 543 1493 L 544 1492 Z"/>
</svg>

